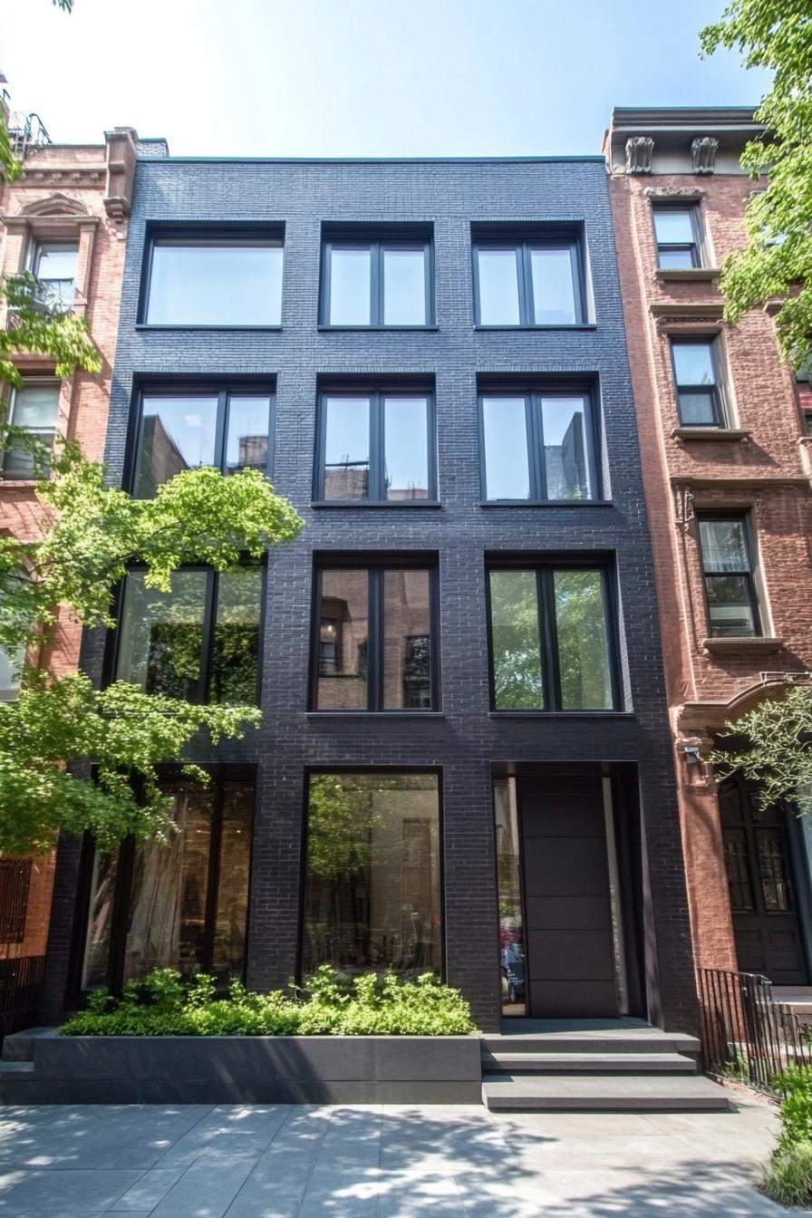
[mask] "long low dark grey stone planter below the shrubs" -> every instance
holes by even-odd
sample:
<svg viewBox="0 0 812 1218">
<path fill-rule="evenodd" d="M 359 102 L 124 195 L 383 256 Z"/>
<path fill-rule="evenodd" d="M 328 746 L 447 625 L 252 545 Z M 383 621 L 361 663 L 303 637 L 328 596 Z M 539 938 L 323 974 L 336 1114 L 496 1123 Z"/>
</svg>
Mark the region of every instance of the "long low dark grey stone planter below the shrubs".
<svg viewBox="0 0 812 1218">
<path fill-rule="evenodd" d="M 7 1037 L 4 1104 L 481 1104 L 477 1037 Z"/>
</svg>

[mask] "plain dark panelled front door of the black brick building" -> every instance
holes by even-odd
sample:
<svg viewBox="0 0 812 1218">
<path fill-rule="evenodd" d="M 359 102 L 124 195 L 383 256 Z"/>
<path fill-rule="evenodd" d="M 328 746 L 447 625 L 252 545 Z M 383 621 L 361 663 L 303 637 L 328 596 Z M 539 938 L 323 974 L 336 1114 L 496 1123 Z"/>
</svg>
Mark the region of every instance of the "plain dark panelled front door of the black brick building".
<svg viewBox="0 0 812 1218">
<path fill-rule="evenodd" d="M 603 783 L 550 776 L 519 788 L 527 1013 L 617 1016 Z"/>
</svg>

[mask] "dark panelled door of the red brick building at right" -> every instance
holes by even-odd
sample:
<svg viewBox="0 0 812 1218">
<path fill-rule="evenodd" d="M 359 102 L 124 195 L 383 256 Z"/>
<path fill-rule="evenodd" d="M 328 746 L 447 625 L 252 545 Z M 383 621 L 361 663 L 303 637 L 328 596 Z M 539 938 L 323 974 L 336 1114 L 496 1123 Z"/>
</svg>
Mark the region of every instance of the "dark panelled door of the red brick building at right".
<svg viewBox="0 0 812 1218">
<path fill-rule="evenodd" d="M 785 809 L 760 809 L 733 777 L 719 787 L 719 815 L 739 970 L 775 985 L 807 985 Z"/>
</svg>

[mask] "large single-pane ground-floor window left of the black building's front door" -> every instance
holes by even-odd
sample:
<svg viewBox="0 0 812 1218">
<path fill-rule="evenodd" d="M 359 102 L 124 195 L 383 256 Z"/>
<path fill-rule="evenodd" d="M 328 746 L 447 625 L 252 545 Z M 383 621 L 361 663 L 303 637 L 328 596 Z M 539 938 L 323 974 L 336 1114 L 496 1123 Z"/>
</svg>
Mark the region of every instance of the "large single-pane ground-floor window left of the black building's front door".
<svg viewBox="0 0 812 1218">
<path fill-rule="evenodd" d="M 439 972 L 436 773 L 312 773 L 302 972 Z"/>
</svg>

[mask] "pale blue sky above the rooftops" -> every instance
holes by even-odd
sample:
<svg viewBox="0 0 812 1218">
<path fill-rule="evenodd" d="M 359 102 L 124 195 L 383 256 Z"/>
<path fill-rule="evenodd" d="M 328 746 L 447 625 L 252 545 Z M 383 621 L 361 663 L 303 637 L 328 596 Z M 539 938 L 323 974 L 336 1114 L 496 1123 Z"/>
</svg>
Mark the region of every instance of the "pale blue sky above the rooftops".
<svg viewBox="0 0 812 1218">
<path fill-rule="evenodd" d="M 612 106 L 747 105 L 699 60 L 723 0 L 0 0 L 0 68 L 55 140 L 178 156 L 600 151 Z"/>
</svg>

